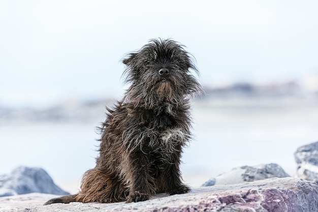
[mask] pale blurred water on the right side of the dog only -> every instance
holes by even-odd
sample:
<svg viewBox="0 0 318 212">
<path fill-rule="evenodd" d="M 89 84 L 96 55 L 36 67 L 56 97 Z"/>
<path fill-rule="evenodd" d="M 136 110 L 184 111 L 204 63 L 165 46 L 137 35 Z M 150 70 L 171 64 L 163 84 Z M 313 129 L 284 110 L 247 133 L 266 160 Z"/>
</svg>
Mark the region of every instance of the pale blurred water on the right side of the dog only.
<svg viewBox="0 0 318 212">
<path fill-rule="evenodd" d="M 221 99 L 195 104 L 196 140 L 185 150 L 190 185 L 242 165 L 277 163 L 295 175 L 294 153 L 318 140 L 317 100 Z"/>
</svg>

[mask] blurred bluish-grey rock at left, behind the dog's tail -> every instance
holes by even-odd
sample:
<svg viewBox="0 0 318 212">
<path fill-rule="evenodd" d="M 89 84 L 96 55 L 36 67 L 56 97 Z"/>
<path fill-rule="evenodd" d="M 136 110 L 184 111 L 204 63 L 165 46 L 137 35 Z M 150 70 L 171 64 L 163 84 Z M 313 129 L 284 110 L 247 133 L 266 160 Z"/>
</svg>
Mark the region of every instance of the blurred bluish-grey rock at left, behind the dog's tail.
<svg viewBox="0 0 318 212">
<path fill-rule="evenodd" d="M 41 168 L 18 167 L 10 175 L 0 176 L 0 196 L 27 193 L 69 194 L 56 186 L 48 173 Z"/>
</svg>

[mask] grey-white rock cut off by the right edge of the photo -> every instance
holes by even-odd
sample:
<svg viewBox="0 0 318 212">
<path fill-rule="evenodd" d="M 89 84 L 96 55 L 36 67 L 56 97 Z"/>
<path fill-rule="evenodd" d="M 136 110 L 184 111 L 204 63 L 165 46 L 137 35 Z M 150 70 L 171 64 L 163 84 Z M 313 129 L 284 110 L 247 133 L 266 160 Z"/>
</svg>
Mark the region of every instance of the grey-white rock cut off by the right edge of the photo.
<svg viewBox="0 0 318 212">
<path fill-rule="evenodd" d="M 318 141 L 299 147 L 295 159 L 297 176 L 318 183 Z"/>
</svg>

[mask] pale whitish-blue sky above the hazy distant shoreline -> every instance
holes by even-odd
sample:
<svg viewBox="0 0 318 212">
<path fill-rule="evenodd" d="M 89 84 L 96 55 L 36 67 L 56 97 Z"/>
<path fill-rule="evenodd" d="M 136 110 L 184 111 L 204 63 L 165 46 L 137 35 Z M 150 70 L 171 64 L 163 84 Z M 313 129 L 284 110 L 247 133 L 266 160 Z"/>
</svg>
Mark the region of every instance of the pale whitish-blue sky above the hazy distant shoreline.
<svg viewBox="0 0 318 212">
<path fill-rule="evenodd" d="M 121 59 L 172 38 L 203 85 L 318 75 L 318 2 L 0 1 L 0 106 L 118 98 Z"/>
</svg>

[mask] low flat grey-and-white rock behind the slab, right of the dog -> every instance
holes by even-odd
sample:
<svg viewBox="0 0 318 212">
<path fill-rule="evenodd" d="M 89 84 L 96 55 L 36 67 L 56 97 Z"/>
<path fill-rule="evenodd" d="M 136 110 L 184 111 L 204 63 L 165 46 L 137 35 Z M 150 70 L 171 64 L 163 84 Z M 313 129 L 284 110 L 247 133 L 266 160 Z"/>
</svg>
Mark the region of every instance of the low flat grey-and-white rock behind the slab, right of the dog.
<svg viewBox="0 0 318 212">
<path fill-rule="evenodd" d="M 258 166 L 241 166 L 209 179 L 202 186 L 238 184 L 272 177 L 288 176 L 279 165 L 274 163 Z"/>
</svg>

